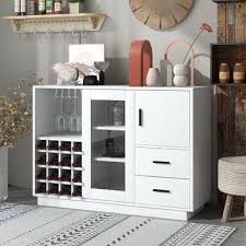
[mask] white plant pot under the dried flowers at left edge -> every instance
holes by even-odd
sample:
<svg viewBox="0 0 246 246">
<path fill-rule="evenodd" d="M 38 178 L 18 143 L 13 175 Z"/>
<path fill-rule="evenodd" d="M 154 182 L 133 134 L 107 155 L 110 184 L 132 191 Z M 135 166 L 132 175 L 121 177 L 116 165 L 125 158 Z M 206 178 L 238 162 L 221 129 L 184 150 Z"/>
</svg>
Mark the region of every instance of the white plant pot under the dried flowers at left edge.
<svg viewBox="0 0 246 246">
<path fill-rule="evenodd" d="M 8 149 L 0 148 L 0 201 L 8 198 Z"/>
</svg>

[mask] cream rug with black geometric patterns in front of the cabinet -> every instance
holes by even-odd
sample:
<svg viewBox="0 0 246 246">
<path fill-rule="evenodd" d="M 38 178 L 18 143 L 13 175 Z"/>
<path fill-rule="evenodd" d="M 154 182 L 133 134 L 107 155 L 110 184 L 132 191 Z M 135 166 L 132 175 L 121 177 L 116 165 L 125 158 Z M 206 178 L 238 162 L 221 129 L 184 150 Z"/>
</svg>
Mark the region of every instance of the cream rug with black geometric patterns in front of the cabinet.
<svg viewBox="0 0 246 246">
<path fill-rule="evenodd" d="M 0 204 L 0 246 L 220 246 L 234 229 L 218 227 L 216 244 L 184 244 L 184 238 L 202 243 L 206 233 L 215 229 L 113 213 Z"/>
</svg>

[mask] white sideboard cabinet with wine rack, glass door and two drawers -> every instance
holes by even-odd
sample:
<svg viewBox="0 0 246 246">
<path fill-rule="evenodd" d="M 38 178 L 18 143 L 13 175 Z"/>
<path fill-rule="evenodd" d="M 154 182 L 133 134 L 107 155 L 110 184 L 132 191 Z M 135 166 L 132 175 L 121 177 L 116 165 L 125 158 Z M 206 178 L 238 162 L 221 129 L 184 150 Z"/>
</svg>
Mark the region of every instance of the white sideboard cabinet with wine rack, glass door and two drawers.
<svg viewBox="0 0 246 246">
<path fill-rule="evenodd" d="M 40 206 L 186 221 L 210 201 L 210 87 L 35 86 L 33 128 Z"/>
</svg>

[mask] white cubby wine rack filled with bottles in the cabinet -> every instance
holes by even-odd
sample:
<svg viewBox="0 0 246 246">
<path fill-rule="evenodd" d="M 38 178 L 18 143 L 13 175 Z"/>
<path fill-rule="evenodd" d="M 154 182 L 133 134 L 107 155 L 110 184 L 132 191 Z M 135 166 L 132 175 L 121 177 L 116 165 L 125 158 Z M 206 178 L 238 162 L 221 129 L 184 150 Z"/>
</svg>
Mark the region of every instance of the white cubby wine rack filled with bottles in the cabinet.
<svg viewBox="0 0 246 246">
<path fill-rule="evenodd" d="M 82 142 L 38 139 L 35 153 L 36 196 L 82 198 Z"/>
</svg>

